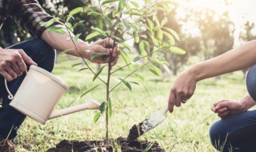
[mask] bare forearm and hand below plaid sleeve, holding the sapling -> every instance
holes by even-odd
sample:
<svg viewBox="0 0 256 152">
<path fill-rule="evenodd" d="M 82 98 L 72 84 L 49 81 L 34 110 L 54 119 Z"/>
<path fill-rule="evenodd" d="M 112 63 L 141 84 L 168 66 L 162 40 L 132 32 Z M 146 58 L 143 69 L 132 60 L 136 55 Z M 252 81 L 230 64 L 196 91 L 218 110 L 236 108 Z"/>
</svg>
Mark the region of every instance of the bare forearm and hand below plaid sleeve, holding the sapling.
<svg viewBox="0 0 256 152">
<path fill-rule="evenodd" d="M 62 25 L 58 25 L 58 26 L 63 27 L 63 29 L 66 30 L 65 26 L 62 26 Z M 74 36 L 74 34 L 72 33 L 70 34 Z M 68 52 L 68 54 L 70 55 L 80 57 L 80 54 L 78 53 L 79 51 L 82 54 L 82 58 L 88 59 L 90 58 L 91 54 L 106 53 L 106 55 L 110 55 L 110 54 L 112 55 L 112 62 L 111 62 L 112 66 L 114 66 L 114 64 L 116 64 L 116 62 L 118 61 L 118 54 L 119 54 L 118 46 L 117 46 L 117 43 L 114 44 L 114 50 L 112 50 L 112 46 L 114 43 L 112 39 L 106 38 L 104 40 L 94 42 L 90 45 L 82 41 L 81 39 L 78 39 L 78 41 L 75 42 L 76 45 L 74 46 L 74 43 L 72 42 L 72 40 L 68 41 L 68 39 L 70 39 L 70 34 L 68 30 L 66 30 L 66 34 L 58 34 L 54 31 L 49 32 L 48 30 L 45 30 L 42 33 L 41 38 L 58 51 L 71 49 Z M 78 51 L 76 49 L 78 49 Z M 99 57 L 99 58 L 94 58 L 94 60 L 91 62 L 106 63 L 106 62 L 109 62 L 109 59 L 110 57 L 104 62 L 102 61 L 102 57 Z"/>
</svg>

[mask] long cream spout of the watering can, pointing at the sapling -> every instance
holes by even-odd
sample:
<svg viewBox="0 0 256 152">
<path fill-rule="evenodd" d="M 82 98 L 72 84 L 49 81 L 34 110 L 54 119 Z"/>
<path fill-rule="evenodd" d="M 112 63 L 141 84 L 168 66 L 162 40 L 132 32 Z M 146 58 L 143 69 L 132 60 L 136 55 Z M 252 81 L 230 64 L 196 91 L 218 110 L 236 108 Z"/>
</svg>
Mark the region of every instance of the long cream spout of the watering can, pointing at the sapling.
<svg viewBox="0 0 256 152">
<path fill-rule="evenodd" d="M 58 118 L 60 116 L 66 115 L 66 114 L 72 114 L 74 112 L 78 112 L 81 110 L 98 110 L 100 104 L 92 99 L 87 99 L 87 101 L 81 105 L 78 106 L 72 106 L 63 110 L 53 110 L 53 112 L 50 114 L 49 119 L 51 118 Z"/>
</svg>

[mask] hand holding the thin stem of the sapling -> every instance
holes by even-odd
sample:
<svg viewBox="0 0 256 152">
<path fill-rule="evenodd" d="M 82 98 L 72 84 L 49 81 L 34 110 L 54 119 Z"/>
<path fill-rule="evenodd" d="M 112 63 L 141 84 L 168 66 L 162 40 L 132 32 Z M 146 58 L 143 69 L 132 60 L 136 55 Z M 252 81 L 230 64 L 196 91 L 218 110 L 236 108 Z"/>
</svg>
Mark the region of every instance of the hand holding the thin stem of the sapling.
<svg viewBox="0 0 256 152">
<path fill-rule="evenodd" d="M 114 49 L 113 49 L 114 45 Z M 106 61 L 103 61 L 102 56 L 98 58 L 94 58 L 91 60 L 91 62 L 95 63 L 106 63 L 110 62 L 111 60 L 111 66 L 114 66 L 118 62 L 118 55 L 119 55 L 119 50 L 118 50 L 118 43 L 114 44 L 114 41 L 110 38 L 106 38 L 104 40 L 98 40 L 97 42 L 94 42 L 87 48 L 86 50 L 86 55 L 90 58 L 90 55 L 95 54 L 95 53 L 106 53 L 108 56 L 106 58 Z"/>
</svg>

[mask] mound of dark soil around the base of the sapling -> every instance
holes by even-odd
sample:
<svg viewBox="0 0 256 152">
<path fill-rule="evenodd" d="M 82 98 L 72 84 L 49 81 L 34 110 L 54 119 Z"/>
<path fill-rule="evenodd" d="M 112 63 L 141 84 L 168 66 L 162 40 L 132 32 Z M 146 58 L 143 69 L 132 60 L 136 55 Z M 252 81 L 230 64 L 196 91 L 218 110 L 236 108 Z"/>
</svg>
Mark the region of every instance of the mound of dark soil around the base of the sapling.
<svg viewBox="0 0 256 152">
<path fill-rule="evenodd" d="M 67 141 L 62 140 L 58 143 L 55 148 L 47 150 L 47 152 L 63 152 L 63 151 L 74 151 L 74 152 L 96 152 L 96 151 L 117 151 L 122 152 L 164 152 L 157 142 L 148 141 L 127 141 L 126 138 L 117 138 L 116 140 L 110 141 L 111 146 L 106 146 L 106 141 Z"/>
</svg>

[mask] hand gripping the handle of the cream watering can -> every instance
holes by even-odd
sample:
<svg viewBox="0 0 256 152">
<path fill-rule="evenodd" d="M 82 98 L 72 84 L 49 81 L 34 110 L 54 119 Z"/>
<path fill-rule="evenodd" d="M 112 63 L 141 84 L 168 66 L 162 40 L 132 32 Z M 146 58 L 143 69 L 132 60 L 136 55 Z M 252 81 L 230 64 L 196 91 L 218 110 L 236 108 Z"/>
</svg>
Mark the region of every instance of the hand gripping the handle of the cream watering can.
<svg viewBox="0 0 256 152">
<path fill-rule="evenodd" d="M 37 65 L 23 50 L 0 49 L 0 74 L 12 81 L 26 71 L 26 63 Z"/>
</svg>

